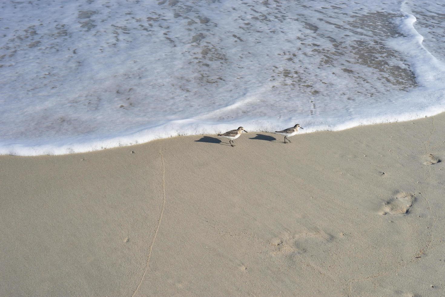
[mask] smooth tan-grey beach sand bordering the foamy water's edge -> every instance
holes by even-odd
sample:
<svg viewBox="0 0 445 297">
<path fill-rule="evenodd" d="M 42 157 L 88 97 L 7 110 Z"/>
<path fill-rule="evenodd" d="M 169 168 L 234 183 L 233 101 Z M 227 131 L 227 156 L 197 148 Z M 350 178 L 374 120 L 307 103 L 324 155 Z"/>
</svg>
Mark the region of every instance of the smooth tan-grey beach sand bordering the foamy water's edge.
<svg viewBox="0 0 445 297">
<path fill-rule="evenodd" d="M 0 156 L 0 295 L 444 296 L 444 127 Z"/>
</svg>

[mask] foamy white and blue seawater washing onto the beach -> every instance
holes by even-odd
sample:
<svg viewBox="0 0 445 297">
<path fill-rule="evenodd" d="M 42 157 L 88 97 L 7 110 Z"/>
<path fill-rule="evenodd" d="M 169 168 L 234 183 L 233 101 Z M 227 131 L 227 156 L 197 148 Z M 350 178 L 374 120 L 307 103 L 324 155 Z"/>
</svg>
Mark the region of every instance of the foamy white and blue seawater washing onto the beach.
<svg viewBox="0 0 445 297">
<path fill-rule="evenodd" d="M 0 154 L 445 111 L 441 1 L 0 4 Z"/>
</svg>

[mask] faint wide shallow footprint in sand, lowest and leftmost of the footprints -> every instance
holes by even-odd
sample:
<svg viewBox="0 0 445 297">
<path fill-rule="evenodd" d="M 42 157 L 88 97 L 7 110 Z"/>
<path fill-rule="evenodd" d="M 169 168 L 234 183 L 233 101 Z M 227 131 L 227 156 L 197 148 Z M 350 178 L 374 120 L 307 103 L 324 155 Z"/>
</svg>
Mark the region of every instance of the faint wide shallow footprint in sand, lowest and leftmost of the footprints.
<svg viewBox="0 0 445 297">
<path fill-rule="evenodd" d="M 310 249 L 312 245 L 328 243 L 334 240 L 334 236 L 321 231 L 300 232 L 294 235 L 285 234 L 275 237 L 270 241 L 274 255 L 302 254 Z"/>
</svg>

